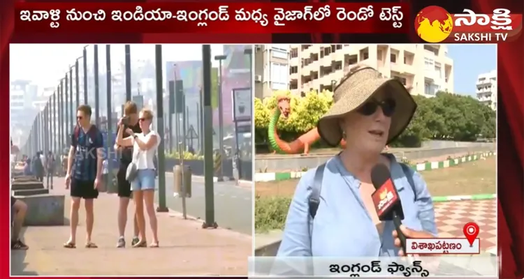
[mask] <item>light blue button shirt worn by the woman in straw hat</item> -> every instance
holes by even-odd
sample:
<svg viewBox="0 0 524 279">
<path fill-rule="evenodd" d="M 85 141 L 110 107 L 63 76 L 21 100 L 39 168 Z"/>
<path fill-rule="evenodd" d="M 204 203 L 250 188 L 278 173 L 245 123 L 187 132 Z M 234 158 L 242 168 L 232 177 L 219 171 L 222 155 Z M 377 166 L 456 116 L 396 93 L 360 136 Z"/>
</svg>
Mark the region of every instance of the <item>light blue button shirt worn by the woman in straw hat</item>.
<svg viewBox="0 0 524 279">
<path fill-rule="evenodd" d="M 402 224 L 437 236 L 432 199 L 421 175 L 411 173 L 417 192 L 415 200 L 402 166 L 394 156 L 388 155 L 388 158 L 391 159 L 391 178 L 404 211 Z M 315 171 L 310 169 L 298 182 L 277 257 L 396 257 L 393 221 L 384 222 L 384 230 L 379 235 L 363 205 L 358 190 L 361 182 L 347 171 L 339 156 L 326 163 L 319 209 L 312 220 L 308 199 Z"/>
</svg>

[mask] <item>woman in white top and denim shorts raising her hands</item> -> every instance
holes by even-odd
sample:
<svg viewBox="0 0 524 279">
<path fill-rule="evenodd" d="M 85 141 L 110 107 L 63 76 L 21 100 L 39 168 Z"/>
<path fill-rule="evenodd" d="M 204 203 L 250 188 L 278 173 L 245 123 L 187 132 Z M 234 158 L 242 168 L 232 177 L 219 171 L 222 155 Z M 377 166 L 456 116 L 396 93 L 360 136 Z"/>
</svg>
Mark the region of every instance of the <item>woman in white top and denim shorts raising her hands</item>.
<svg viewBox="0 0 524 279">
<path fill-rule="evenodd" d="M 153 204 L 156 173 L 153 157 L 160 144 L 160 136 L 153 130 L 150 130 L 151 121 L 153 120 L 153 113 L 150 110 L 141 110 L 138 117 L 142 133 L 136 134 L 130 128 L 126 128 L 126 133 L 130 136 L 122 139 L 124 126 L 122 126 L 122 121 L 120 121 L 119 133 L 117 135 L 117 143 L 120 146 L 133 146 L 133 163 L 136 163 L 138 169 L 136 179 L 131 181 L 131 190 L 133 190 L 133 199 L 136 204 L 136 223 L 138 223 L 140 241 L 133 247 L 147 246 L 145 240 L 144 204 L 153 231 L 153 242 L 150 244 L 150 247 L 159 247 L 157 216 Z"/>
</svg>

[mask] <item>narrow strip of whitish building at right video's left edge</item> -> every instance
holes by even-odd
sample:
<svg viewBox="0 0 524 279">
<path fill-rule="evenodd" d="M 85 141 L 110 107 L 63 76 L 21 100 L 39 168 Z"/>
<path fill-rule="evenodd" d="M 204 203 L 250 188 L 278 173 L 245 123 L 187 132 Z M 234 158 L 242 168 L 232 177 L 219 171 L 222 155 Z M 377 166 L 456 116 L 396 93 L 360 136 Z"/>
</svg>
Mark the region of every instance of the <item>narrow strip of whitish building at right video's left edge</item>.
<svg viewBox="0 0 524 279">
<path fill-rule="evenodd" d="M 255 97 L 289 89 L 289 45 L 255 45 Z"/>
</svg>

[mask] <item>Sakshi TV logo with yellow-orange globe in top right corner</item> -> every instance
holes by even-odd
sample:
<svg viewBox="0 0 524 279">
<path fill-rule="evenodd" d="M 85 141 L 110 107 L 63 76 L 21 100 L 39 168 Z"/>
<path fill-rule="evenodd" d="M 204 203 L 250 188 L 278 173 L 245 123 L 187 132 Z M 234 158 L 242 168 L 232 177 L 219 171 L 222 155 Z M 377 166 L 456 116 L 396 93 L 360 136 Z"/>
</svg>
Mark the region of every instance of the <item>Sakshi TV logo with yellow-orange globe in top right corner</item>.
<svg viewBox="0 0 524 279">
<path fill-rule="evenodd" d="M 497 43 L 521 35 L 522 14 L 495 8 L 490 14 L 464 9 L 451 14 L 439 6 L 423 8 L 415 17 L 415 31 L 427 43 Z"/>
</svg>

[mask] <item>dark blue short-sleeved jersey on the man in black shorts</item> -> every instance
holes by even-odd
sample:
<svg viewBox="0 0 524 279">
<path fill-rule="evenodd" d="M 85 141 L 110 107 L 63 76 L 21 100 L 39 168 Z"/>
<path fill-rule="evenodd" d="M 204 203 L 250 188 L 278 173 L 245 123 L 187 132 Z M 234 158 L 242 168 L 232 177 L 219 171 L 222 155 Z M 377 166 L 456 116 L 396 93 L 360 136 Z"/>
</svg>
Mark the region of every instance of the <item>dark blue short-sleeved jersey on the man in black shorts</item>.
<svg viewBox="0 0 524 279">
<path fill-rule="evenodd" d="M 95 126 L 91 126 L 87 133 L 79 128 L 78 133 L 73 132 L 71 135 L 71 146 L 75 148 L 75 161 L 71 176 L 80 181 L 94 181 L 96 179 L 96 149 L 103 147 L 102 133 Z"/>
</svg>

